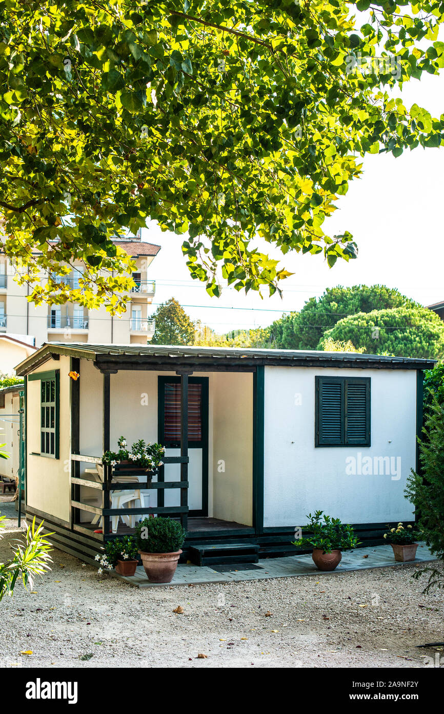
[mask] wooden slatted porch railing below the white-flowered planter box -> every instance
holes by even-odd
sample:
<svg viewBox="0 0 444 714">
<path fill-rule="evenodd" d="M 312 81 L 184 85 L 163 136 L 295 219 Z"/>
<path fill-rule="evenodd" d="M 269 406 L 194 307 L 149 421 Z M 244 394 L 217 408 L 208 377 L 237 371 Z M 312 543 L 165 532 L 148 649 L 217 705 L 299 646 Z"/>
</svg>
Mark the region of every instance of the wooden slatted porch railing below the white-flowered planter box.
<svg viewBox="0 0 444 714">
<path fill-rule="evenodd" d="M 83 454 L 71 454 L 71 526 L 73 530 L 85 533 L 87 535 L 92 535 L 93 537 L 98 536 L 98 540 L 109 540 L 110 538 L 116 537 L 116 534 L 109 533 L 110 531 L 110 518 L 112 516 L 149 516 L 151 513 L 156 513 L 160 516 L 164 515 L 178 515 L 180 516 L 180 523 L 187 529 L 188 525 L 188 481 L 165 481 L 165 465 L 170 463 L 180 463 L 182 466 L 188 464 L 190 461 L 188 456 L 164 456 L 163 464 L 155 471 L 150 472 L 150 475 L 157 476 L 158 481 L 133 481 L 132 483 L 113 483 L 114 476 L 135 476 L 140 478 L 140 476 L 147 476 L 146 471 L 137 467 L 127 466 L 118 464 L 116 466 L 108 466 L 103 464 L 103 481 L 93 481 L 90 478 L 81 478 L 78 476 L 80 472 L 81 463 L 92 463 L 102 465 L 102 459 L 97 456 L 85 456 Z M 73 475 L 72 475 L 73 474 Z M 158 491 L 158 506 L 152 507 L 141 507 L 141 508 L 129 508 L 124 506 L 123 508 L 110 508 L 110 492 L 111 491 L 132 491 L 135 488 L 140 490 L 150 490 Z M 88 486 L 89 488 L 95 488 L 102 492 L 102 507 L 90 506 L 88 503 L 83 503 L 80 496 L 80 487 Z M 180 489 L 180 506 L 164 506 L 165 499 L 163 497 L 165 489 L 168 488 L 178 488 Z M 103 538 L 100 538 L 100 534 L 93 533 L 91 529 L 82 526 L 78 523 L 78 516 L 76 511 L 87 511 L 88 513 L 94 513 L 95 516 L 101 516 L 103 518 L 102 534 Z"/>
</svg>

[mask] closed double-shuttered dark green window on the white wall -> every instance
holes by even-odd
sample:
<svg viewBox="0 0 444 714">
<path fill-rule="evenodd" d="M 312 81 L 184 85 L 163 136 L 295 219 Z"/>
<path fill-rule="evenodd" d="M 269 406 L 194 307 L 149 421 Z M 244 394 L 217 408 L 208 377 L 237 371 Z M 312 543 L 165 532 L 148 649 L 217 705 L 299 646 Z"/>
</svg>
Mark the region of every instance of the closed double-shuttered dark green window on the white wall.
<svg viewBox="0 0 444 714">
<path fill-rule="evenodd" d="M 315 446 L 370 446 L 370 377 L 316 377 Z"/>
</svg>

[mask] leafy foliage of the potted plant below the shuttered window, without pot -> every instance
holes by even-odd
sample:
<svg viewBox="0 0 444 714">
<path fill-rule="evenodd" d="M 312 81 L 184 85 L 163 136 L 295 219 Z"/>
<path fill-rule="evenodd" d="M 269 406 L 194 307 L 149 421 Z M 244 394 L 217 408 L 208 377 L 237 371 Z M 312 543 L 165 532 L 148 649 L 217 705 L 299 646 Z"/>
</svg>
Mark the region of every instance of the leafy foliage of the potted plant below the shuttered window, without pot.
<svg viewBox="0 0 444 714">
<path fill-rule="evenodd" d="M 309 535 L 305 538 L 294 540 L 292 545 L 304 548 L 320 548 L 324 553 L 331 553 L 332 550 L 356 548 L 356 545 L 359 544 L 353 528 L 341 523 L 339 518 L 325 516 L 324 511 L 316 511 L 314 516 L 309 513 L 306 518 L 310 518 L 308 525 L 305 526 L 305 530 L 309 531 Z"/>
</svg>

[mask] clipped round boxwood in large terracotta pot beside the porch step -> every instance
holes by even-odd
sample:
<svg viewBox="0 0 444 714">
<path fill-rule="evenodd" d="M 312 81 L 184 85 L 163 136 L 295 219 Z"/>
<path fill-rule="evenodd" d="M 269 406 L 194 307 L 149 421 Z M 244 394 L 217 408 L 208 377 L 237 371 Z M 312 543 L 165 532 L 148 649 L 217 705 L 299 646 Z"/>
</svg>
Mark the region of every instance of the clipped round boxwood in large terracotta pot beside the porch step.
<svg viewBox="0 0 444 714">
<path fill-rule="evenodd" d="M 135 527 L 143 568 L 151 583 L 170 583 L 187 535 L 172 518 L 144 518 Z"/>
</svg>

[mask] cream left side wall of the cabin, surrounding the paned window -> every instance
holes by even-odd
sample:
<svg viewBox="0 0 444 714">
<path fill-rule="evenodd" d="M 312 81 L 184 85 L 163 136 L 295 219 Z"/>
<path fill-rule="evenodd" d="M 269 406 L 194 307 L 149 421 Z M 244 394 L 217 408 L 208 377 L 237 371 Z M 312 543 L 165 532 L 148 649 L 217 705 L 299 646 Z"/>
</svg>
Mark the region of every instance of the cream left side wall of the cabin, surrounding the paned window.
<svg viewBox="0 0 444 714">
<path fill-rule="evenodd" d="M 68 377 L 70 368 L 69 357 L 62 356 L 59 360 L 48 360 L 36 368 L 34 374 L 60 370 L 60 436 L 59 456 L 40 456 L 40 381 L 28 381 L 27 393 L 27 451 L 28 451 L 28 493 L 26 503 L 43 513 L 69 521 L 71 500 L 69 476 L 71 463 L 71 379 Z"/>
</svg>

